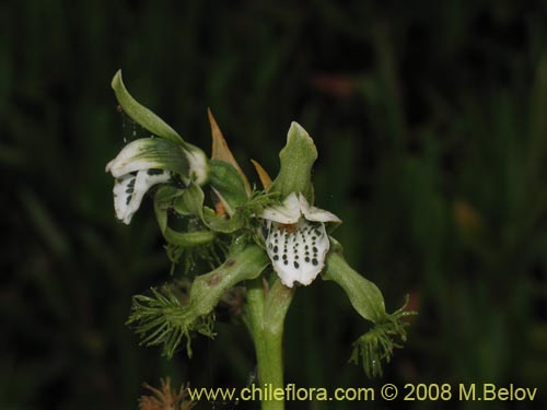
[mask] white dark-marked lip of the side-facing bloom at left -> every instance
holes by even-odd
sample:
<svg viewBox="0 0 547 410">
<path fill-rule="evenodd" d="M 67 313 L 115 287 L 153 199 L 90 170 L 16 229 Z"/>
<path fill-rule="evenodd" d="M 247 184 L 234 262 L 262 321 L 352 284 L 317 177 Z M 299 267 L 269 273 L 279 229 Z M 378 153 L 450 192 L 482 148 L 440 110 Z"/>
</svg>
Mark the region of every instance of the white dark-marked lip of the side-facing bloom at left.
<svg viewBox="0 0 547 410">
<path fill-rule="evenodd" d="M 166 183 L 171 178 L 167 171 L 140 171 L 137 175 L 128 174 L 116 179 L 114 184 L 114 210 L 116 218 L 129 224 L 144 197 L 154 185 Z"/>
</svg>

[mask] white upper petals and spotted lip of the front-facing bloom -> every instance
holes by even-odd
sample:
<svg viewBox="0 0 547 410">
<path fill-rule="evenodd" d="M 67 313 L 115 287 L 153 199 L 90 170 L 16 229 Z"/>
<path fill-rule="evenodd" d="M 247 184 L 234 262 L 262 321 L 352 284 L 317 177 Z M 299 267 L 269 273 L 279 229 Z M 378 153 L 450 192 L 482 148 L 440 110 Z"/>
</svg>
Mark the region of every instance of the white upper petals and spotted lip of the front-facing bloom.
<svg viewBox="0 0 547 410">
<path fill-rule="evenodd" d="M 330 243 L 325 223 L 341 222 L 335 214 L 310 206 L 302 194 L 290 194 L 280 206 L 266 208 L 266 250 L 281 282 L 309 285 L 323 270 Z"/>
</svg>

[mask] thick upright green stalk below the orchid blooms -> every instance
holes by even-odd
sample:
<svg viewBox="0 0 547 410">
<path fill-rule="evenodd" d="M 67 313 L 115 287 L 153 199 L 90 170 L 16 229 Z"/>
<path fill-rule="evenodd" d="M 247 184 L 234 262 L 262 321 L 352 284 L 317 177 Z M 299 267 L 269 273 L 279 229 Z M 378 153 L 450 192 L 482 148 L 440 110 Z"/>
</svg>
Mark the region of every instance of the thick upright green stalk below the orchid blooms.
<svg viewBox="0 0 547 410">
<path fill-rule="evenodd" d="M 287 311 L 294 295 L 294 288 L 284 286 L 280 280 L 267 290 L 263 279 L 255 279 L 247 288 L 245 323 L 253 338 L 258 367 L 259 387 L 276 391 L 283 384 L 283 326 Z M 264 399 L 264 398 L 263 398 Z M 283 410 L 284 400 L 261 401 L 261 410 Z"/>
</svg>

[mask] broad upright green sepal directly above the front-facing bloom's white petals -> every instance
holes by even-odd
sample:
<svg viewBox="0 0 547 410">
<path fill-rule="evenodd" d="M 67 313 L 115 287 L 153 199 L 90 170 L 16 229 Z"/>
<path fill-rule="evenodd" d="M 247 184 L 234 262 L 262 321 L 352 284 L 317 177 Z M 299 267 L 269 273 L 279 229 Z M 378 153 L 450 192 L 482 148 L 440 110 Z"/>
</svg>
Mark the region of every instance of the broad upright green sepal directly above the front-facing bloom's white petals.
<svg viewBox="0 0 547 410">
<path fill-rule="evenodd" d="M 279 192 L 284 198 L 291 192 L 302 192 L 313 204 L 312 166 L 317 159 L 317 149 L 302 126 L 292 122 L 287 134 L 287 144 L 279 153 L 280 169 L 269 187 L 269 192 Z"/>
</svg>

